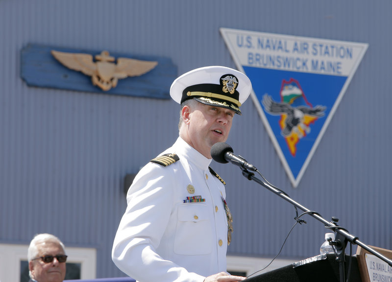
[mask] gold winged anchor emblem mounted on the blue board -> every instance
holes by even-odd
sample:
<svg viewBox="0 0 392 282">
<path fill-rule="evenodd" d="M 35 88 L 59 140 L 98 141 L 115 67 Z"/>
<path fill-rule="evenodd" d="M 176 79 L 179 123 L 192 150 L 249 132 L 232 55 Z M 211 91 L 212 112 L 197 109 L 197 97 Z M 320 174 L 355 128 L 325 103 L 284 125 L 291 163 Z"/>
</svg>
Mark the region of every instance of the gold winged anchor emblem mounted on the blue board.
<svg viewBox="0 0 392 282">
<path fill-rule="evenodd" d="M 52 50 L 50 52 L 56 60 L 67 68 L 74 71 L 81 71 L 91 76 L 93 85 L 98 86 L 103 91 L 115 88 L 119 79 L 128 76 L 140 76 L 151 71 L 158 65 L 155 61 L 143 61 L 130 58 L 115 58 L 109 55 L 108 51 L 102 51 L 95 56 L 84 53 L 68 53 Z"/>
</svg>

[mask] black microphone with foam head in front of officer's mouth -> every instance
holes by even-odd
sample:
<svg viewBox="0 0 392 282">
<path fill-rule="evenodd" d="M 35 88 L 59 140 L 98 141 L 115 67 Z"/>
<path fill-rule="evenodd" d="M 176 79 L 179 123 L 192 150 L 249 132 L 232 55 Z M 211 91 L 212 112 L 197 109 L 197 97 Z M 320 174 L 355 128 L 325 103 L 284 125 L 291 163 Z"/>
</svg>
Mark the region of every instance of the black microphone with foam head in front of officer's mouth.
<svg viewBox="0 0 392 282">
<path fill-rule="evenodd" d="M 232 164 L 238 165 L 242 168 L 256 171 L 257 168 L 253 164 L 249 164 L 240 156 L 236 156 L 233 153 L 233 148 L 229 144 L 224 142 L 218 142 L 211 147 L 211 157 L 214 161 L 227 164 L 231 162 Z"/>
</svg>

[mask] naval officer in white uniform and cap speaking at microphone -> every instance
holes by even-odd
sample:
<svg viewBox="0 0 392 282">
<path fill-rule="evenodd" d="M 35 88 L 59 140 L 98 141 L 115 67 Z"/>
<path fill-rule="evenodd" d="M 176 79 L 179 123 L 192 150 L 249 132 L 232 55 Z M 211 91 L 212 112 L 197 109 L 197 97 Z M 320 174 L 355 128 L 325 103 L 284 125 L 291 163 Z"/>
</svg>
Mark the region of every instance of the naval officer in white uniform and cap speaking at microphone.
<svg viewBox="0 0 392 282">
<path fill-rule="evenodd" d="M 240 71 L 212 66 L 174 80 L 179 137 L 135 177 L 112 249 L 119 269 L 139 282 L 235 282 L 226 272 L 232 218 L 224 181 L 210 167 L 251 91 Z"/>
</svg>

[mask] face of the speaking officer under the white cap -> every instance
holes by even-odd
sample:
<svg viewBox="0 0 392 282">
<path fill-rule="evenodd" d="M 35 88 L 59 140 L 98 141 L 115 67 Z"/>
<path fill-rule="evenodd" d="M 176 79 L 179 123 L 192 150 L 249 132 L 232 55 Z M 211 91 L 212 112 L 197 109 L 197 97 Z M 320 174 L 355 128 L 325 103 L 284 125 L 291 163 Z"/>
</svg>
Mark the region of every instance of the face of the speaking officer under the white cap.
<svg viewBox="0 0 392 282">
<path fill-rule="evenodd" d="M 189 111 L 187 125 L 190 145 L 211 159 L 212 145 L 227 140 L 235 112 L 202 103 L 195 103 Z"/>
</svg>

